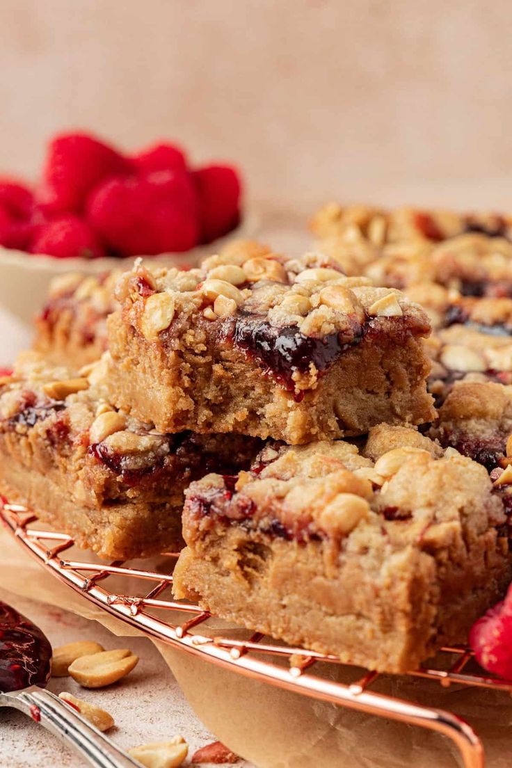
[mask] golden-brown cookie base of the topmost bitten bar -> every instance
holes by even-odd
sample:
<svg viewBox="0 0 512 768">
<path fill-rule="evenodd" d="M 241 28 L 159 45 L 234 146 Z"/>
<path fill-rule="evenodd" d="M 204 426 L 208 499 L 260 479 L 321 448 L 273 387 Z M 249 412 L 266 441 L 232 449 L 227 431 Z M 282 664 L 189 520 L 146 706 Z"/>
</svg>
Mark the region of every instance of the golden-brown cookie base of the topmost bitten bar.
<svg viewBox="0 0 512 768">
<path fill-rule="evenodd" d="M 179 352 L 151 344 L 114 313 L 108 321 L 111 399 L 162 432 L 240 432 L 298 445 L 361 435 L 380 422 L 434 418 L 419 339 L 364 339 L 339 356 L 302 399 L 233 346 L 196 339 Z"/>
</svg>

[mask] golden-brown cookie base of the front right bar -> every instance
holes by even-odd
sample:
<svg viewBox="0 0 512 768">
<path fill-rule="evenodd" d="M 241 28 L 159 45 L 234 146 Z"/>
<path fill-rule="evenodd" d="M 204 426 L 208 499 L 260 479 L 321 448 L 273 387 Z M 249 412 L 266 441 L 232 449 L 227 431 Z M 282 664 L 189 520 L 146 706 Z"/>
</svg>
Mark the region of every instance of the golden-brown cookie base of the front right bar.
<svg viewBox="0 0 512 768">
<path fill-rule="evenodd" d="M 219 527 L 182 551 L 173 591 L 253 631 L 347 664 L 399 673 L 438 647 L 463 642 L 503 594 L 511 569 L 492 551 L 491 538 L 487 548 L 468 554 L 463 568 L 445 574 L 429 554 L 408 548 L 380 573 L 370 552 L 346 558 L 329 578 L 320 542 Z"/>
</svg>

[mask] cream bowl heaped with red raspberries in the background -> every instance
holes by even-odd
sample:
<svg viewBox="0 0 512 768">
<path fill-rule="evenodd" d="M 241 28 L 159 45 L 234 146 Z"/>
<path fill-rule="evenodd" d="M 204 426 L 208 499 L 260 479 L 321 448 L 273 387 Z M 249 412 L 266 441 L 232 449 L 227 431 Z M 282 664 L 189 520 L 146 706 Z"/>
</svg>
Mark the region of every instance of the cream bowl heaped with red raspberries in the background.
<svg viewBox="0 0 512 768">
<path fill-rule="evenodd" d="M 139 256 L 194 266 L 253 229 L 233 165 L 192 166 L 165 141 L 124 154 L 59 134 L 33 187 L 0 175 L 0 303 L 31 322 L 62 273 L 129 269 Z"/>
</svg>

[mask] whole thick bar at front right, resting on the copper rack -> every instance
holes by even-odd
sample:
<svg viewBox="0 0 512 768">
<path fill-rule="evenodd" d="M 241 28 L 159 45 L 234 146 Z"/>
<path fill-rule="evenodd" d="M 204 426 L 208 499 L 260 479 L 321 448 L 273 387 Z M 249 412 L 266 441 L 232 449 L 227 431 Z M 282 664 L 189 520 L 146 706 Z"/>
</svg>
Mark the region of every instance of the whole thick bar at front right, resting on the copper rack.
<svg viewBox="0 0 512 768">
<path fill-rule="evenodd" d="M 345 663 L 415 668 L 510 581 L 484 467 L 411 428 L 378 426 L 363 452 L 267 445 L 249 472 L 186 495 L 177 598 Z"/>
</svg>

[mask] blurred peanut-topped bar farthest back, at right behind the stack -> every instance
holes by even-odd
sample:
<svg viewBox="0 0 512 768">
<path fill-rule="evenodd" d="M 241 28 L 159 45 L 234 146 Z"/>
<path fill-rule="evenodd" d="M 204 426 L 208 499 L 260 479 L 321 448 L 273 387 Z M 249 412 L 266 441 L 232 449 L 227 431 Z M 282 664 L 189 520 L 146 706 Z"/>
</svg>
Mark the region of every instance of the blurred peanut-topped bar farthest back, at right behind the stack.
<svg viewBox="0 0 512 768">
<path fill-rule="evenodd" d="M 329 204 L 312 230 L 331 266 L 377 285 L 433 282 L 465 296 L 512 296 L 512 217 Z"/>
</svg>

